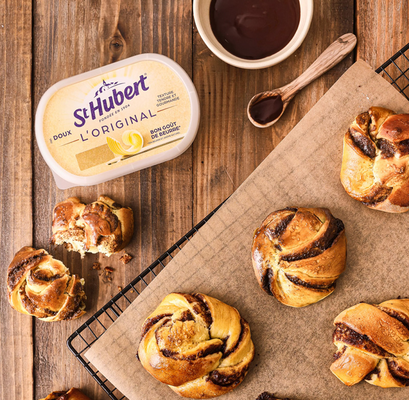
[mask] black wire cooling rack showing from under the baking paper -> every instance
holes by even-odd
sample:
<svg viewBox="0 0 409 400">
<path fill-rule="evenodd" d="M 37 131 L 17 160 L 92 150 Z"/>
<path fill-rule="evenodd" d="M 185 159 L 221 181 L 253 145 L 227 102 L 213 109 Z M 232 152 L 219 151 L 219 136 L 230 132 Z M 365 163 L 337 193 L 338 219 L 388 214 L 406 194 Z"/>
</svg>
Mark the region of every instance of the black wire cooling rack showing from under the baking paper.
<svg viewBox="0 0 409 400">
<path fill-rule="evenodd" d="M 376 70 L 376 73 L 389 80 L 390 83 L 397 88 L 399 93 L 409 100 L 409 43 L 387 62 L 382 64 Z M 139 296 L 152 279 L 165 268 L 168 262 L 186 245 L 193 235 L 207 223 L 222 204 L 213 210 L 206 218 L 202 219 L 191 231 L 162 254 L 161 257 L 148 266 L 145 271 L 124 287 L 118 295 L 108 301 L 108 303 L 81 325 L 67 340 L 69 349 L 112 400 L 126 400 L 126 397 L 89 361 L 86 361 L 83 354 L 103 335 L 106 329 L 115 322 L 125 308 Z"/>
</svg>

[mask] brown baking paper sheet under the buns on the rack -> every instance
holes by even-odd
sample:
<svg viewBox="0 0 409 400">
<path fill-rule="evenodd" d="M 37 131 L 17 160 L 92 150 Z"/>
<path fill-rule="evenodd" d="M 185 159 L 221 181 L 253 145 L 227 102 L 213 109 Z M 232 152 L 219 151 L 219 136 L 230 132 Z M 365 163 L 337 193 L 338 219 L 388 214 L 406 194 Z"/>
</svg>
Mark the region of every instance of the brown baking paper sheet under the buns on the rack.
<svg viewBox="0 0 409 400">
<path fill-rule="evenodd" d="M 297 101 L 297 99 L 295 100 Z M 236 307 L 251 328 L 256 357 L 223 400 L 268 390 L 297 400 L 400 400 L 409 388 L 347 387 L 330 372 L 333 319 L 360 301 L 409 297 L 409 213 L 371 210 L 339 181 L 343 137 L 371 105 L 409 112 L 409 103 L 365 62 L 356 62 L 268 155 L 228 202 L 86 353 L 130 400 L 180 398 L 135 359 L 144 319 L 170 292 L 201 292 Z M 243 118 L 244 114 L 243 114 Z M 260 132 L 262 135 L 263 132 Z M 346 227 L 348 261 L 326 299 L 291 308 L 264 293 L 251 262 L 253 232 L 271 211 L 328 207 Z"/>
</svg>

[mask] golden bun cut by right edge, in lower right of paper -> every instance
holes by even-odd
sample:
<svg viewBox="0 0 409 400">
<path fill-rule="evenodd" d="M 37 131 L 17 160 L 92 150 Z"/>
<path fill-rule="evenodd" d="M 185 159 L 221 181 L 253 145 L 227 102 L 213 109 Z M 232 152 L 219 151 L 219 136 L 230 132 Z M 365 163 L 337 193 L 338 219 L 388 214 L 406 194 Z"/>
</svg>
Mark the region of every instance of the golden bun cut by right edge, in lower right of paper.
<svg viewBox="0 0 409 400">
<path fill-rule="evenodd" d="M 359 303 L 335 320 L 332 373 L 348 386 L 409 385 L 409 299 Z M 379 397 L 381 398 L 381 397 Z"/>
</svg>

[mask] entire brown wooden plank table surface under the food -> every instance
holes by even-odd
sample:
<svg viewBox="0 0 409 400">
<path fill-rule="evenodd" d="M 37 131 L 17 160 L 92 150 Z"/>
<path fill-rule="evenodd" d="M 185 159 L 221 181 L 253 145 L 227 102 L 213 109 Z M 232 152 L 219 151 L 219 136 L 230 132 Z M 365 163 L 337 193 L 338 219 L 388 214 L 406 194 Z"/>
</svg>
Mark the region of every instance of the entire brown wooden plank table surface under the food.
<svg viewBox="0 0 409 400">
<path fill-rule="evenodd" d="M 310 31 L 279 65 L 247 71 L 225 64 L 201 40 L 191 0 L 2 0 L 0 2 L 0 398 L 37 400 L 52 390 L 81 388 L 108 396 L 66 347 L 66 339 L 112 295 L 228 197 L 356 59 L 377 68 L 409 41 L 407 0 L 314 0 Z M 338 36 L 354 32 L 353 54 L 306 87 L 281 120 L 265 130 L 245 116 L 256 93 L 301 74 Z M 201 104 L 193 145 L 169 162 L 92 187 L 59 190 L 34 140 L 41 95 L 55 82 L 135 54 L 177 61 L 192 77 Z M 357 110 L 361 112 L 361 110 Z M 328 116 L 331 123 L 331 115 Z M 294 157 L 297 157 L 294 155 Z M 274 173 L 274 171 L 271 171 Z M 135 233 L 126 266 L 118 256 L 49 246 L 52 209 L 69 196 L 99 194 L 133 209 Z M 46 323 L 11 309 L 6 271 L 22 246 L 45 248 L 85 278 L 88 313 Z M 111 284 L 94 261 L 115 269 Z M 140 329 L 140 327 L 135 327 Z"/>
</svg>

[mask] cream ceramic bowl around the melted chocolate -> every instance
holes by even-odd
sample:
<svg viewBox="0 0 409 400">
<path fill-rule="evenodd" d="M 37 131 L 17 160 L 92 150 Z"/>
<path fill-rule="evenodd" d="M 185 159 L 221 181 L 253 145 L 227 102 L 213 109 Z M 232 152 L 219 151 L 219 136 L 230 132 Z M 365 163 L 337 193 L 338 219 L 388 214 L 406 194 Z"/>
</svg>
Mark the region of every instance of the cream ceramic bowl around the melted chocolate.
<svg viewBox="0 0 409 400">
<path fill-rule="evenodd" d="M 278 64 L 296 51 L 300 47 L 310 28 L 314 8 L 313 0 L 300 0 L 300 24 L 296 34 L 288 45 L 271 56 L 259 60 L 246 60 L 228 52 L 216 39 L 212 27 L 210 26 L 211 2 L 212 0 L 193 0 L 193 15 L 201 38 L 206 43 L 206 46 L 224 62 L 237 66 L 238 68 L 252 70 L 267 68 L 267 66 Z"/>
</svg>

